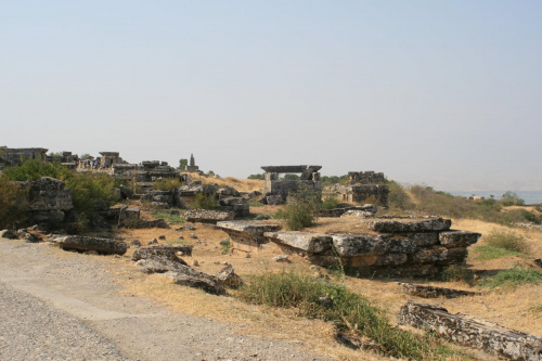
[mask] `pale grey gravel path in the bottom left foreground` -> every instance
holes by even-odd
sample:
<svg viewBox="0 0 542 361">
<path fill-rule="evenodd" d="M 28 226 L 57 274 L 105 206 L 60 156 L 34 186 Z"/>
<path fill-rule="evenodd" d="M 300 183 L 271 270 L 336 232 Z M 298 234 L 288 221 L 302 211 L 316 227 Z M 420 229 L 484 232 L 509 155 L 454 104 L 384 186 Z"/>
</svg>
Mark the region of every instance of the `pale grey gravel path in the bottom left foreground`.
<svg viewBox="0 0 542 361">
<path fill-rule="evenodd" d="M 119 294 L 108 266 L 0 240 L 0 360 L 328 360 Z"/>
</svg>

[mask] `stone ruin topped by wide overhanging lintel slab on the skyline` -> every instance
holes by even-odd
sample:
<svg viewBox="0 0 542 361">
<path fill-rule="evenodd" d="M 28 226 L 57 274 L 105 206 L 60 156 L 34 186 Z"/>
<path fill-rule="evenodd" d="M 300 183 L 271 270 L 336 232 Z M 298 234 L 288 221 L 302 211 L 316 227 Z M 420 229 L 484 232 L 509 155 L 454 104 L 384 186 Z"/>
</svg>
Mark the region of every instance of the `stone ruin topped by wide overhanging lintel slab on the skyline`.
<svg viewBox="0 0 542 361">
<path fill-rule="evenodd" d="M 289 192 L 296 192 L 300 185 L 322 193 L 320 173 L 322 166 L 266 166 L 266 184 L 263 186 L 262 202 L 276 205 L 286 202 Z M 280 179 L 280 173 L 301 173 L 298 180 Z"/>
</svg>

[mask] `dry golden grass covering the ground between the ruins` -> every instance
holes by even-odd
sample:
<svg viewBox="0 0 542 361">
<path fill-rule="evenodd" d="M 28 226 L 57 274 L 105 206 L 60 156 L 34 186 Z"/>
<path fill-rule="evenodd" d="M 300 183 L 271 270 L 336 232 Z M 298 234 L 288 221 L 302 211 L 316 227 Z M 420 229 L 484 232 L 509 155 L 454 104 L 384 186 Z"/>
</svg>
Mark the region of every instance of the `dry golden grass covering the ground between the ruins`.
<svg viewBox="0 0 542 361">
<path fill-rule="evenodd" d="M 204 179 L 204 181 L 207 182 L 209 180 Z M 219 182 L 217 181 L 217 183 Z M 261 190 L 262 181 L 225 178 L 222 184 L 232 185 L 243 192 L 250 192 Z M 272 215 L 278 209 L 280 209 L 279 206 L 250 207 L 253 214 Z M 153 216 L 150 212 L 144 212 L 144 217 L 152 218 Z M 539 231 L 509 229 L 504 225 L 479 220 L 453 220 L 452 229 L 475 231 L 482 234 L 478 244 L 469 247 L 466 266 L 468 269 L 475 271 L 478 278 L 474 285 L 469 285 L 465 282 L 369 280 L 341 276 L 337 272 L 317 268 L 305 258 L 295 255 L 289 256 L 291 263 L 278 263 L 272 258 L 273 256 L 281 255 L 282 252 L 273 244 L 264 245 L 260 252 L 253 253 L 247 258 L 244 253 L 231 253 L 224 249 L 220 245 L 220 241 L 227 238 L 228 234 L 216 229 L 214 225 L 196 223 L 195 230 L 177 231 L 176 228 L 179 227 L 171 225 L 169 229 L 121 230 L 119 232 L 128 243 L 138 238 L 142 245 L 146 245 L 152 238 L 158 238 L 158 236 L 164 235 L 165 240 L 159 241 L 160 244 L 192 244 L 194 245 L 193 255 L 192 257 L 185 257 L 184 260 L 189 265 L 192 265 L 196 260 L 198 263 L 195 267 L 196 269 L 211 274 L 217 273 L 228 262 L 233 266 L 235 272 L 242 278 L 266 272 L 292 271 L 330 278 L 337 283 L 344 282 L 349 289 L 361 294 L 373 305 L 383 308 L 392 323 L 399 308 L 409 299 L 415 299 L 442 306 L 452 313 L 462 312 L 476 315 L 505 326 L 542 336 L 542 284 L 525 285 L 517 288 L 498 287 L 495 289 L 481 288 L 478 285 L 481 278 L 494 274 L 499 270 L 512 269 L 516 265 L 522 265 L 526 268 L 535 268 L 537 266 L 532 262 L 532 258 L 540 258 L 542 256 L 542 232 Z M 362 231 L 361 228 L 362 225 L 354 218 L 320 218 L 317 224 L 307 229 L 307 231 L 359 232 Z M 529 245 L 529 254 L 524 256 L 506 256 L 490 260 L 479 259 L 476 248 L 483 246 L 487 234 L 493 231 L 512 231 L 522 235 L 525 242 Z M 197 240 L 192 238 L 190 233 L 195 233 Z M 183 240 L 180 240 L 180 236 Z M 130 248 L 127 256 L 130 257 L 133 250 L 134 248 Z M 122 258 L 121 261 L 131 263 L 128 257 Z M 139 273 L 136 266 L 133 266 L 133 270 L 130 280 L 124 284 L 127 293 L 147 295 L 179 312 L 242 325 L 242 330 L 246 334 L 302 343 L 322 354 L 339 360 L 360 359 L 361 351 L 353 351 L 340 346 L 334 339 L 333 326 L 323 321 L 299 318 L 293 310 L 248 305 L 235 297 L 212 296 L 198 289 L 177 286 L 168 278 Z M 122 279 L 126 280 L 126 278 Z M 402 294 L 400 286 L 395 283 L 396 281 L 477 291 L 481 292 L 481 296 L 463 297 L 460 299 L 422 299 Z M 234 292 L 231 291 L 230 294 L 234 294 Z M 491 360 L 491 357 L 485 357 L 472 350 L 467 352 L 473 354 L 475 359 Z M 364 352 L 363 359 L 379 360 L 380 357 Z"/>
</svg>

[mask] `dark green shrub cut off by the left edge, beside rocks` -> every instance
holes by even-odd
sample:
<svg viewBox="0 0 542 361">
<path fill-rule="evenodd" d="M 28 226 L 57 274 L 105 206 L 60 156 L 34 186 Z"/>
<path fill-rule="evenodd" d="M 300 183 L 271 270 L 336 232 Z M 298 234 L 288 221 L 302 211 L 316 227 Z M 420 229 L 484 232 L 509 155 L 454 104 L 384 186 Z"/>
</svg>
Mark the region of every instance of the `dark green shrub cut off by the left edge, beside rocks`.
<svg viewBox="0 0 542 361">
<path fill-rule="evenodd" d="M 28 189 L 0 176 L 0 230 L 17 228 L 28 221 Z"/>
</svg>

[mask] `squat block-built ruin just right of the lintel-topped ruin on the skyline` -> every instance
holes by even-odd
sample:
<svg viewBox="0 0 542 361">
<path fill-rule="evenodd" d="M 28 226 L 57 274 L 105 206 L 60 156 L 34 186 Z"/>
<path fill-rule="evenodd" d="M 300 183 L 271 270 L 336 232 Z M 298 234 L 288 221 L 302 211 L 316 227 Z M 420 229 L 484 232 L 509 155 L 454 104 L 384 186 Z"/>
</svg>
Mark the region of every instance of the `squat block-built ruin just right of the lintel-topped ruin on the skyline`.
<svg viewBox="0 0 542 361">
<path fill-rule="evenodd" d="M 364 203 L 374 197 L 382 206 L 388 205 L 389 188 L 385 184 L 383 172 L 349 171 L 350 184 L 336 184 L 332 188 L 340 201 Z"/>
</svg>

